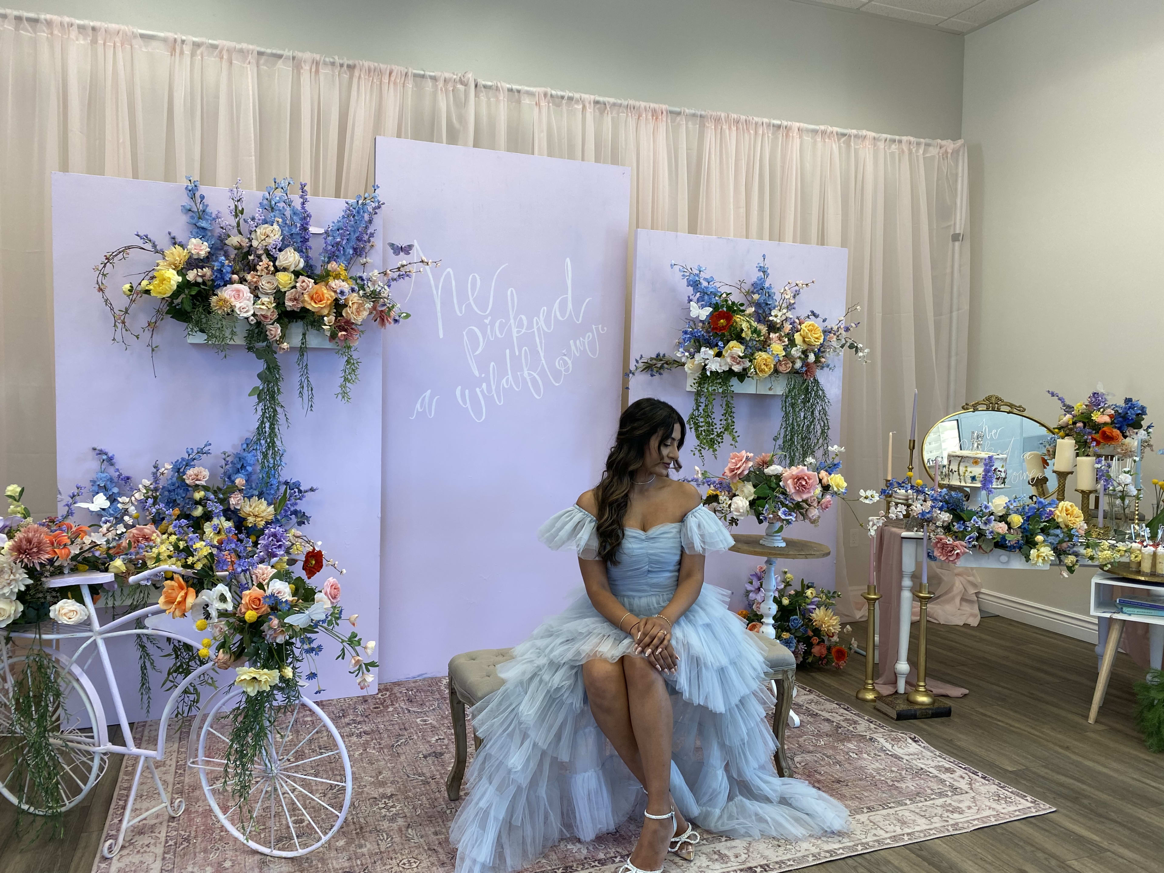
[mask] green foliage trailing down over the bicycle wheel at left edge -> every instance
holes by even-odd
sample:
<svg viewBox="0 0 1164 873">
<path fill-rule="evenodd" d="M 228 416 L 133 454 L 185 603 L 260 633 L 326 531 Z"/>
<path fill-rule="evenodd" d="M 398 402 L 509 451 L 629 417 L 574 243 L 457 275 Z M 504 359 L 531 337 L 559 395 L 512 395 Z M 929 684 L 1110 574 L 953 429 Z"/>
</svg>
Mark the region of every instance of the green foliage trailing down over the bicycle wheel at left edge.
<svg viewBox="0 0 1164 873">
<path fill-rule="evenodd" d="M 10 662 L 9 662 L 10 663 Z M 52 836 L 64 833 L 61 794 L 62 764 L 52 747 L 52 736 L 61 728 L 64 693 L 56 661 L 37 645 L 24 655 L 24 668 L 13 676 L 12 728 L 0 743 L 0 758 L 10 758 L 13 769 L 8 783 L 21 803 L 43 810 L 44 816 L 34 829 L 33 837 L 51 826 Z M 27 812 L 16 807 L 17 829 Z"/>
</svg>

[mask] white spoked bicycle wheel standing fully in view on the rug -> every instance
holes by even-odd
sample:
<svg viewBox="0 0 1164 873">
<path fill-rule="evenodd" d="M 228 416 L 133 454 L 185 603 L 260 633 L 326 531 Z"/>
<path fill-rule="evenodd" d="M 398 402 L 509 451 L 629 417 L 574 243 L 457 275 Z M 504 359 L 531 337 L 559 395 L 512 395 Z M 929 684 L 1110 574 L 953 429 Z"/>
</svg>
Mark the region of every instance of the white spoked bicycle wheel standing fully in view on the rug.
<svg viewBox="0 0 1164 873">
<path fill-rule="evenodd" d="M 222 767 L 230 710 L 242 693 L 230 688 L 215 697 L 194 725 L 197 754 L 190 761 L 214 815 L 263 854 L 296 858 L 319 849 L 340 829 L 352 803 L 352 762 L 332 719 L 303 698 L 279 712 L 255 765 L 250 794 L 239 799 L 223 785 Z"/>
</svg>

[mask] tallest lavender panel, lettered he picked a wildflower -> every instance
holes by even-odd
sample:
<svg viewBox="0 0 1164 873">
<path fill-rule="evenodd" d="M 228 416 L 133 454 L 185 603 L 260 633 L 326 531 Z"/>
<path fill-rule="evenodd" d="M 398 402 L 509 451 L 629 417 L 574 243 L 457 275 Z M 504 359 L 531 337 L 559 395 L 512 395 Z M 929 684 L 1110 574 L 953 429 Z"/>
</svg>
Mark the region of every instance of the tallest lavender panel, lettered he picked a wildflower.
<svg viewBox="0 0 1164 873">
<path fill-rule="evenodd" d="M 630 171 L 379 139 L 376 182 L 385 239 L 441 261 L 385 346 L 388 681 L 516 645 L 581 587 L 537 531 L 617 428 Z"/>
</svg>

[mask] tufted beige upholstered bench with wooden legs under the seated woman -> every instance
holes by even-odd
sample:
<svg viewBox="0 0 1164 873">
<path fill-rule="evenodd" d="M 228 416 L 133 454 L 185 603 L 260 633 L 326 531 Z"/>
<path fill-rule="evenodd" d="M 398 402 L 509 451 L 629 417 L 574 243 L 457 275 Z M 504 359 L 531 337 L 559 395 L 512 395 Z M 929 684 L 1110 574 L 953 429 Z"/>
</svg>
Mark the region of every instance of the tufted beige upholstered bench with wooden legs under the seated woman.
<svg viewBox="0 0 1164 873">
<path fill-rule="evenodd" d="M 775 640 L 760 634 L 754 637 L 765 648 L 766 669 L 764 677 L 776 684 L 776 709 L 772 717 L 772 732 L 776 738 L 776 772 L 785 778 L 792 775 L 785 754 L 785 728 L 793 705 L 793 689 L 796 684 L 796 659 L 793 653 Z M 464 779 L 464 762 L 469 755 L 468 729 L 464 708 L 474 707 L 504 684 L 497 668 L 513 656 L 512 648 L 481 648 L 454 655 L 448 662 L 448 707 L 453 716 L 453 739 L 456 758 L 453 769 L 445 781 L 449 800 L 461 796 L 461 780 Z M 482 737 L 474 734 L 474 745 L 480 748 Z"/>
</svg>

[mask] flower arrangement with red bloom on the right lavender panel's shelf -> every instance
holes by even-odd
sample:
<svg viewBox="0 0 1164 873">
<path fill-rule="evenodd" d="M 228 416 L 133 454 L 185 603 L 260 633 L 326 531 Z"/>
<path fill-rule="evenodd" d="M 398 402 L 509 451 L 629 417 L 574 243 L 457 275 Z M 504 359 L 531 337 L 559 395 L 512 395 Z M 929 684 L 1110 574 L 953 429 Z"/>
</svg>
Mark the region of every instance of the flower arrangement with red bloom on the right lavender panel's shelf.
<svg viewBox="0 0 1164 873">
<path fill-rule="evenodd" d="M 832 324 L 815 311 L 794 314 L 800 294 L 812 283 L 789 282 L 775 291 L 764 260 L 750 284 L 717 282 L 702 267 L 672 264 L 676 267 L 690 289 L 689 314 L 676 352 L 640 356 L 631 372 L 656 376 L 682 367 L 695 377 L 689 424 L 701 457 L 705 452 L 716 454 L 729 438 L 739 439 L 733 383 L 788 376 L 776 454 L 790 461 L 823 448 L 829 436 L 829 399 L 816 375 L 833 367 L 846 348 L 858 360 L 867 360 L 868 350 L 849 338 L 857 325 L 847 319 L 860 307 L 851 306 Z M 722 397 L 718 418 L 716 393 Z"/>
</svg>

